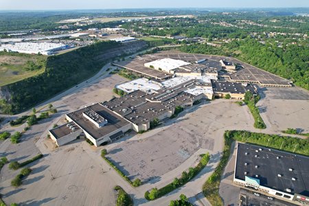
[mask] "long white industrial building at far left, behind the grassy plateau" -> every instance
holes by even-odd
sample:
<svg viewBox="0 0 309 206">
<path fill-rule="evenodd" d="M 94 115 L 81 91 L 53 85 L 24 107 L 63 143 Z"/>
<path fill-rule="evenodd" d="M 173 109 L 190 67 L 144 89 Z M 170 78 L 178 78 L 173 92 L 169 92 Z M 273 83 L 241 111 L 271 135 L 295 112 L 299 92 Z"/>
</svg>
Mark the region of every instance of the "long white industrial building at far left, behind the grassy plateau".
<svg viewBox="0 0 309 206">
<path fill-rule="evenodd" d="M 62 43 L 12 43 L 1 45 L 0 51 L 50 55 L 53 52 L 68 48 L 68 45 Z"/>
</svg>

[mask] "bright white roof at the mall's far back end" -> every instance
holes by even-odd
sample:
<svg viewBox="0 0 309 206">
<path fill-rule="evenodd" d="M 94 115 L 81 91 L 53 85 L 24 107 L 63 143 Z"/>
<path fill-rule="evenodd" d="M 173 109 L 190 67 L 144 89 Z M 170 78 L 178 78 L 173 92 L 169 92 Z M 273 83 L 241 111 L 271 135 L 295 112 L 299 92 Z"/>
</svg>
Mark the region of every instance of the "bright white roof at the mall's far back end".
<svg viewBox="0 0 309 206">
<path fill-rule="evenodd" d="M 163 71 L 169 72 L 172 69 L 176 69 L 184 65 L 191 65 L 191 63 L 185 62 L 183 60 L 172 59 L 172 58 L 162 58 L 159 60 L 148 62 L 144 66 L 146 67 L 152 66 L 152 67 L 155 67 L 155 69 L 161 68 Z"/>
</svg>

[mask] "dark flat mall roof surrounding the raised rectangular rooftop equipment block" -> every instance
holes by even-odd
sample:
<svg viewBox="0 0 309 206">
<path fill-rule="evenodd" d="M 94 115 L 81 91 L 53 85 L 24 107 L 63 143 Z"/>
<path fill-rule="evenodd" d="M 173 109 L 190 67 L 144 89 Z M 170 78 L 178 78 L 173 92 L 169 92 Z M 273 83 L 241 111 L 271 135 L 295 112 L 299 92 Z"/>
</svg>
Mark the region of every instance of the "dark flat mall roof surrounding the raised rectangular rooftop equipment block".
<svg viewBox="0 0 309 206">
<path fill-rule="evenodd" d="M 102 126 L 101 128 L 95 126 L 89 121 L 89 119 L 82 115 L 82 113 L 90 110 L 95 111 L 95 113 L 98 113 L 100 116 L 104 117 L 104 119 L 107 119 L 108 124 Z M 113 131 L 130 124 L 130 122 L 126 121 L 126 119 L 114 114 L 100 103 L 87 106 L 86 108 L 81 108 L 78 111 L 67 114 L 67 116 L 69 116 L 74 122 L 76 122 L 76 124 L 78 124 L 78 126 L 80 126 L 80 128 L 85 130 L 95 139 L 99 139 L 100 137 L 108 135 Z"/>
</svg>

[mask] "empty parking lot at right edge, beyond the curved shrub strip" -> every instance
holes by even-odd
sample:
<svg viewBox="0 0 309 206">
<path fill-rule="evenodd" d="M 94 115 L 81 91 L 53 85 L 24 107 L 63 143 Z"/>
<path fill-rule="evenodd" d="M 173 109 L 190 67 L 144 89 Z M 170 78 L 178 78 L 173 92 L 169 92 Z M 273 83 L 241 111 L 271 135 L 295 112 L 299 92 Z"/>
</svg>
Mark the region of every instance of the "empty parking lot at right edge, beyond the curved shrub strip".
<svg viewBox="0 0 309 206">
<path fill-rule="evenodd" d="M 267 126 L 281 131 L 298 128 L 309 133 L 309 92 L 297 87 L 267 88 L 258 102 L 260 114 Z"/>
</svg>

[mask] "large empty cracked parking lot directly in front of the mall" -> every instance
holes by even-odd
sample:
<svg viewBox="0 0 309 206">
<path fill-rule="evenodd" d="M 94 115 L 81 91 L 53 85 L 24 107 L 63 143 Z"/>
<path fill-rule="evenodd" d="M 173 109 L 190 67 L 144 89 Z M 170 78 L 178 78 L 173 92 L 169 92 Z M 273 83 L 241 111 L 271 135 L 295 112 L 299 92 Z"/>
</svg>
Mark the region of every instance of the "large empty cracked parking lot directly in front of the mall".
<svg viewBox="0 0 309 206">
<path fill-rule="evenodd" d="M 172 121 L 174 119 L 166 122 L 165 126 L 117 144 L 108 150 L 106 157 L 130 179 L 159 180 L 160 176 L 177 168 L 200 148 L 210 154 L 221 151 L 225 129 L 253 126 L 246 107 L 222 101 L 200 106 L 196 111 L 176 119 L 176 124 Z M 194 165 L 186 165 L 186 168 L 190 166 Z"/>
</svg>

